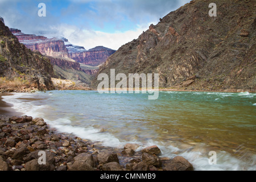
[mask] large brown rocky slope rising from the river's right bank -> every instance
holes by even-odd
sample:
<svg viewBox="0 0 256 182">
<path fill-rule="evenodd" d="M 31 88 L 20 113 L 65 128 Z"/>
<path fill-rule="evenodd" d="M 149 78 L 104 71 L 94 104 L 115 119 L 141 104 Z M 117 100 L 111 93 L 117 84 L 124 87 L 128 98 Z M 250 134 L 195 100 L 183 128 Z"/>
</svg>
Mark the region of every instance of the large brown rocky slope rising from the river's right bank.
<svg viewBox="0 0 256 182">
<path fill-rule="evenodd" d="M 255 1 L 197 0 L 160 19 L 118 49 L 100 73 L 159 73 L 159 86 L 189 90 L 256 90 Z M 97 77 L 92 82 L 96 88 Z"/>
</svg>

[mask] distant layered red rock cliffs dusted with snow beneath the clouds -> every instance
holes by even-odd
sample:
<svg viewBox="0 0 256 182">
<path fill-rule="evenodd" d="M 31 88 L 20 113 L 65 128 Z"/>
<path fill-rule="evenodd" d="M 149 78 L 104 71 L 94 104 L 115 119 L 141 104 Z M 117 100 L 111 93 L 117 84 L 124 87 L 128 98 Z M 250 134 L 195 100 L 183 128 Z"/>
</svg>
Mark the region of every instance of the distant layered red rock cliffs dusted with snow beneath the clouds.
<svg viewBox="0 0 256 182">
<path fill-rule="evenodd" d="M 39 51 L 43 55 L 53 57 L 71 58 L 78 63 L 97 66 L 105 63 L 106 59 L 115 51 L 110 48 L 98 46 L 88 51 L 81 46 L 75 46 L 65 38 L 48 39 L 45 36 L 24 34 L 20 30 L 10 28 L 10 31 L 32 51 Z"/>
</svg>

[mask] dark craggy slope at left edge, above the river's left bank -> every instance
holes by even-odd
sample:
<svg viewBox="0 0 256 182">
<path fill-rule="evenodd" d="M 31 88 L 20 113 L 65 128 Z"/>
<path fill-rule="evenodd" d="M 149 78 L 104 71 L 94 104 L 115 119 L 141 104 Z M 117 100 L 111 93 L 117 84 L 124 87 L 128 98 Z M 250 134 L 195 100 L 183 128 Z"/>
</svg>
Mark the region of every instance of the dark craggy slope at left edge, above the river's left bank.
<svg viewBox="0 0 256 182">
<path fill-rule="evenodd" d="M 50 60 L 20 44 L 3 21 L 0 21 L 0 43 L 0 77 L 26 82 L 26 85 L 40 90 L 54 89 Z"/>
</svg>

